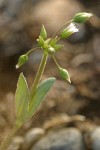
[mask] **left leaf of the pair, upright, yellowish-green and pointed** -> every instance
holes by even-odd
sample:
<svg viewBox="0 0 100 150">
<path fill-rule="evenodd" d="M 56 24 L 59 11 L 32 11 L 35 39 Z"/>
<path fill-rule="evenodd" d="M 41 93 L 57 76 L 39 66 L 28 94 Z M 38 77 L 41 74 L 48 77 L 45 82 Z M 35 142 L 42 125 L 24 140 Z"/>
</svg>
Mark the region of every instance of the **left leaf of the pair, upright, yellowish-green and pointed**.
<svg viewBox="0 0 100 150">
<path fill-rule="evenodd" d="M 21 73 L 18 79 L 17 90 L 15 93 L 15 109 L 18 121 L 23 123 L 26 120 L 28 108 L 29 108 L 29 89 L 26 79 L 23 73 Z"/>
</svg>

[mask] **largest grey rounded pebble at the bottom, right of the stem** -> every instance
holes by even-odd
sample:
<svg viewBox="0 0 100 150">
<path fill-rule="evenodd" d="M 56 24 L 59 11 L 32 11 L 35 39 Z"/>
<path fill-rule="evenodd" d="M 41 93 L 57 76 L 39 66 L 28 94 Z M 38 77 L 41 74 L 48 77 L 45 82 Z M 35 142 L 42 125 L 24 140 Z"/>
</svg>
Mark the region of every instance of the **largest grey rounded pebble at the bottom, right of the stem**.
<svg viewBox="0 0 100 150">
<path fill-rule="evenodd" d="M 31 150 L 85 150 L 82 135 L 76 128 L 49 132 Z"/>
</svg>

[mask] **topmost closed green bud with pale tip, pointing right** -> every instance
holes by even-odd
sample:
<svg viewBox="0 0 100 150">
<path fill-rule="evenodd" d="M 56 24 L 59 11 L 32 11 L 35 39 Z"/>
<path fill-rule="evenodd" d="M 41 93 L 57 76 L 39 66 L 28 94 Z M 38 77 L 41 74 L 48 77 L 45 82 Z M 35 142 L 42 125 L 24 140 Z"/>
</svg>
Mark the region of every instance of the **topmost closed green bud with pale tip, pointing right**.
<svg viewBox="0 0 100 150">
<path fill-rule="evenodd" d="M 86 13 L 86 12 L 78 13 L 74 16 L 73 22 L 84 23 L 87 20 L 89 20 L 91 16 L 93 16 L 93 14 L 91 13 Z"/>
</svg>

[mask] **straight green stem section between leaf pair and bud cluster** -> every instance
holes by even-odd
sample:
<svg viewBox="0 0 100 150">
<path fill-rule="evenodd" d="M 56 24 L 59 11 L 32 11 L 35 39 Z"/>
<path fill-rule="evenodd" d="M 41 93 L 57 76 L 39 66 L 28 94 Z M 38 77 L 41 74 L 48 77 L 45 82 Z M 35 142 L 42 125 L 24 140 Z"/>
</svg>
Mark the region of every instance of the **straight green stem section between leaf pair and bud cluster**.
<svg viewBox="0 0 100 150">
<path fill-rule="evenodd" d="M 35 77 L 35 80 L 34 80 L 34 83 L 33 83 L 33 86 L 31 88 L 31 98 L 34 97 L 34 94 L 36 92 L 37 86 L 39 84 L 39 81 L 41 79 L 41 76 L 43 74 L 43 71 L 44 71 L 44 68 L 45 68 L 45 65 L 46 65 L 46 62 L 47 62 L 47 57 L 48 57 L 47 52 L 44 52 L 41 63 L 40 63 L 40 66 L 39 66 L 39 69 L 37 71 L 37 74 L 36 74 L 36 77 Z"/>
</svg>

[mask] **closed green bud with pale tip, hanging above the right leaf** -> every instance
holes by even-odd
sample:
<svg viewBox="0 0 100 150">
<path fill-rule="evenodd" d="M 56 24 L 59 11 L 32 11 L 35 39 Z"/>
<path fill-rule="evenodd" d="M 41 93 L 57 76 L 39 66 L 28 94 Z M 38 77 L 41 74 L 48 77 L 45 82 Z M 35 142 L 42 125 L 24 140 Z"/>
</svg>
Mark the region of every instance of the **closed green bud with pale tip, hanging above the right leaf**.
<svg viewBox="0 0 100 150">
<path fill-rule="evenodd" d="M 65 79 L 65 80 L 67 80 L 68 82 L 71 83 L 69 73 L 68 73 L 68 71 L 67 71 L 66 69 L 60 68 L 60 69 L 59 69 L 59 74 L 60 74 L 60 76 L 61 76 L 63 79 Z"/>
</svg>

